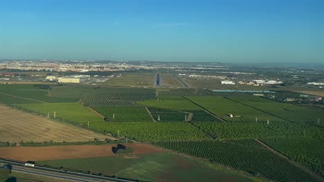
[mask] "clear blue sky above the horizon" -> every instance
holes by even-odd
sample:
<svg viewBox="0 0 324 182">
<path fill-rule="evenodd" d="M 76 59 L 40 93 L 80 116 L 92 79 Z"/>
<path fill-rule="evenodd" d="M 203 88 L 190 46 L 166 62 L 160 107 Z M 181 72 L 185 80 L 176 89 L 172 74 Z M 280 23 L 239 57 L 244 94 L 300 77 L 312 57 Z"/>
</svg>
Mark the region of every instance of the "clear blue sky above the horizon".
<svg viewBox="0 0 324 182">
<path fill-rule="evenodd" d="M 0 59 L 324 61 L 323 0 L 0 0 Z"/>
</svg>

